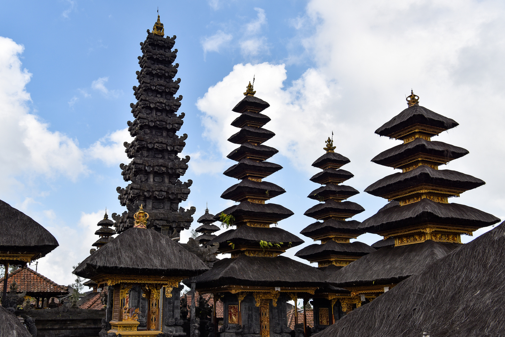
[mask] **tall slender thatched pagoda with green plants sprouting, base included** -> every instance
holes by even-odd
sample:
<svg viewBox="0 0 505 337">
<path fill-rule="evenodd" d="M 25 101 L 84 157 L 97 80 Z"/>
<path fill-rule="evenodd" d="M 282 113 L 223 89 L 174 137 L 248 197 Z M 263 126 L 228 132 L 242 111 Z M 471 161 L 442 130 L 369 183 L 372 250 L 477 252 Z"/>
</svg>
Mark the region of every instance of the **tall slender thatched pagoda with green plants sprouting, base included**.
<svg viewBox="0 0 505 337">
<path fill-rule="evenodd" d="M 240 146 L 228 155 L 238 163 L 224 174 L 240 181 L 225 190 L 221 198 L 239 204 L 216 216 L 227 227 L 236 227 L 213 240 L 219 244 L 220 252 L 231 254 L 231 258 L 217 261 L 196 280 L 198 292 L 213 293 L 224 303 L 221 337 L 235 337 L 237 333 L 248 337 L 289 337 L 286 302 L 308 299 L 327 284 L 324 272 L 279 256 L 303 241 L 277 227 L 278 221 L 293 212 L 267 203 L 285 190 L 263 180 L 282 167 L 266 161 L 277 153 L 263 145 L 274 136 L 263 128 L 270 118 L 262 112 L 270 105 L 255 97 L 255 93 L 249 82 L 244 99 L 233 108 L 239 116 L 231 125 L 240 130 L 228 139 Z"/>
</svg>

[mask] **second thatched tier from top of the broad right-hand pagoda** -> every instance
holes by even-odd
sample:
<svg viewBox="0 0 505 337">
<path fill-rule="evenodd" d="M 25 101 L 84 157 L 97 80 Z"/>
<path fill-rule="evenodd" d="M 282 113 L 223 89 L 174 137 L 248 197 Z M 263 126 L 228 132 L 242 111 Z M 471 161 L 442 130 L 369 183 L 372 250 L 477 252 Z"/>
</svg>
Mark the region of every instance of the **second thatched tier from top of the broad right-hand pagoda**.
<svg viewBox="0 0 505 337">
<path fill-rule="evenodd" d="M 419 156 L 420 154 L 435 156 L 448 162 L 468 155 L 469 152 L 466 149 L 441 141 L 428 141 L 423 138 L 416 138 L 413 141 L 400 144 L 394 148 L 381 152 L 372 159 L 372 162 L 379 165 L 390 166 L 400 160 Z"/>
</svg>

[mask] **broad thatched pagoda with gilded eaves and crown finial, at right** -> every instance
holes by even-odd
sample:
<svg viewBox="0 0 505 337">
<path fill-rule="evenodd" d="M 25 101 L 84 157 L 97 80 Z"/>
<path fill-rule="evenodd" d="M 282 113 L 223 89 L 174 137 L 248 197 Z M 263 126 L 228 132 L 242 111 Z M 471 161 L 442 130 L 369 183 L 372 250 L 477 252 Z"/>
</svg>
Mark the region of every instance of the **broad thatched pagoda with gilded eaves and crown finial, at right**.
<svg viewBox="0 0 505 337">
<path fill-rule="evenodd" d="M 439 170 L 468 151 L 431 137 L 456 127 L 454 120 L 419 105 L 411 91 L 408 108 L 375 133 L 403 143 L 377 155 L 374 163 L 400 169 L 365 191 L 389 204 L 358 227 L 384 236 L 384 245 L 334 272 L 330 281 L 368 302 L 401 280 L 461 246 L 461 235 L 499 221 L 478 209 L 448 203 L 485 182 L 452 170 Z M 361 305 L 361 304 L 360 304 Z"/>
</svg>

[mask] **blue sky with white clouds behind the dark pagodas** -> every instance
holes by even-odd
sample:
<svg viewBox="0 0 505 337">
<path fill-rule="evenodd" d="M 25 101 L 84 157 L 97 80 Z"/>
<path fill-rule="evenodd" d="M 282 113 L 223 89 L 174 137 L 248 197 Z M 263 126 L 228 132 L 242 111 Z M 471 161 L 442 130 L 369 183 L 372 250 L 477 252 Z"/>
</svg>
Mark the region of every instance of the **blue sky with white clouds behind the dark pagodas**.
<svg viewBox="0 0 505 337">
<path fill-rule="evenodd" d="M 222 175 L 233 164 L 225 158 L 236 132 L 231 107 L 253 75 L 256 95 L 271 105 L 266 128 L 277 135 L 267 145 L 279 149 L 271 161 L 284 167 L 267 179 L 287 191 L 272 202 L 295 213 L 282 228 L 297 234 L 313 222 L 303 215 L 317 188 L 310 164 L 331 131 L 336 151 L 351 160 L 348 185 L 363 191 L 393 173 L 370 159 L 398 142 L 373 131 L 407 107 L 411 88 L 421 105 L 461 124 L 434 139 L 470 151 L 447 168 L 487 182 L 452 202 L 505 218 L 500 2 L 9 2 L 0 13 L 0 199 L 59 240 L 39 263 L 47 277 L 72 282 L 71 266 L 89 254 L 105 208 L 124 211 L 116 187 L 126 185 L 119 164 L 128 162 L 131 88 L 158 6 L 165 33 L 177 35 L 180 134 L 188 134 L 183 155 L 191 157 L 181 180 L 193 180 L 181 206 L 195 206 L 195 219 L 206 202 L 212 213 L 230 205 L 219 196 L 235 183 Z M 350 200 L 366 209 L 356 220 L 385 204 L 363 192 Z"/>
</svg>

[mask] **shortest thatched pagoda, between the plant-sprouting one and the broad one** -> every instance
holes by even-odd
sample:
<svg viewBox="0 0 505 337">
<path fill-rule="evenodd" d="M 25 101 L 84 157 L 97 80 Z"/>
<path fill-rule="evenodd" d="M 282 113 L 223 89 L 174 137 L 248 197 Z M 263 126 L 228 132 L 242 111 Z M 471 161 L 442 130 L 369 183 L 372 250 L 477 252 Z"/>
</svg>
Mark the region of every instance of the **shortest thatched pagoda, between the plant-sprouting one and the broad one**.
<svg viewBox="0 0 505 337">
<path fill-rule="evenodd" d="M 317 220 L 323 220 L 323 222 L 314 222 L 300 232 L 300 234 L 311 237 L 315 241 L 321 240 L 321 245 L 307 246 L 295 254 L 295 256 L 310 262 L 318 262 L 320 268 L 330 265 L 336 266 L 331 270 L 346 266 L 352 261 L 375 251 L 375 249 L 362 242 L 349 242 L 350 238 L 357 238 L 358 235 L 365 232 L 358 228 L 359 221 L 346 221 L 346 219 L 363 212 L 365 209 L 356 203 L 344 201 L 357 195 L 359 191 L 351 186 L 340 184 L 352 178 L 353 175 L 340 169 L 341 166 L 350 161 L 346 157 L 335 153 L 334 149 L 333 140 L 328 137 L 326 148 L 324 148 L 326 153 L 312 164 L 312 166 L 322 169 L 323 172 L 316 174 L 311 180 L 324 185 L 313 190 L 308 198 L 322 203 L 307 210 L 305 215 Z"/>
</svg>

